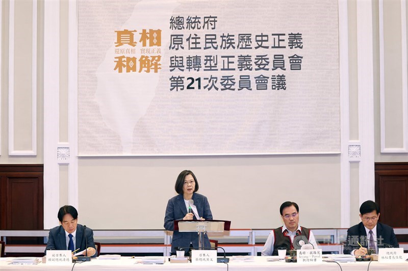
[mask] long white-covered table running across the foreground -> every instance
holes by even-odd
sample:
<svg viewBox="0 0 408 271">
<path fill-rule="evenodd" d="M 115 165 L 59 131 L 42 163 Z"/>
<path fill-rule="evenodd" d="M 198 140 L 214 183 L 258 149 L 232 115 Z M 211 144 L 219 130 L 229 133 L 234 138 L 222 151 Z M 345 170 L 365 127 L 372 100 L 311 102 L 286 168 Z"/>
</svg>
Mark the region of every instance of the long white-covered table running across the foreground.
<svg viewBox="0 0 408 271">
<path fill-rule="evenodd" d="M 0 258 L 0 269 L 4 270 L 66 270 L 70 271 L 72 265 L 70 266 L 56 266 L 47 264 L 37 264 L 37 265 L 12 265 L 7 264 L 4 259 L 10 258 Z M 317 270 L 317 271 L 339 271 L 340 267 L 334 262 L 323 262 L 320 264 L 298 264 L 298 263 L 286 263 L 281 261 L 266 261 L 266 257 L 255 257 L 254 262 L 230 262 L 228 263 L 228 270 L 239 271 L 239 270 L 270 270 L 271 268 L 275 270 Z M 367 270 L 369 262 L 350 262 L 350 263 L 340 263 L 344 271 L 365 271 Z M 120 260 L 98 260 L 92 259 L 90 262 L 83 262 L 75 264 L 73 270 L 197 270 L 197 271 L 207 271 L 207 270 L 227 270 L 227 265 L 225 263 L 217 263 L 215 265 L 194 265 L 191 263 L 170 263 L 165 264 L 137 264 L 136 259 L 130 257 L 122 257 Z M 408 262 L 403 263 L 393 263 L 384 264 L 378 262 L 372 262 L 370 264 L 369 270 L 408 270 Z"/>
</svg>

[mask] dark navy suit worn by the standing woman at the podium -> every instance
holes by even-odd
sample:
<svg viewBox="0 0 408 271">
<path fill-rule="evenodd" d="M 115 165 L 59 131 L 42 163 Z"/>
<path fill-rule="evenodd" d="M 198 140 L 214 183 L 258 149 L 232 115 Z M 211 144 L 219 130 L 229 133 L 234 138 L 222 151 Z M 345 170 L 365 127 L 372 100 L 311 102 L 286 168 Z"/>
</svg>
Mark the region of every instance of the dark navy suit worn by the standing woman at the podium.
<svg viewBox="0 0 408 271">
<path fill-rule="evenodd" d="M 194 193 L 192 200 L 197 207 L 198 215 L 205 220 L 212 220 L 210 204 L 207 197 Z M 168 231 L 173 231 L 173 240 L 171 242 L 171 252 L 175 253 L 177 247 L 188 248 L 192 243 L 194 248 L 198 247 L 198 234 L 196 232 L 179 232 L 174 231 L 174 221 L 183 220 L 187 214 L 186 204 L 182 194 L 169 199 L 164 217 L 164 228 Z M 207 234 L 204 239 L 204 247 L 210 247 L 210 240 Z M 187 250 L 187 249 L 185 249 Z"/>
</svg>

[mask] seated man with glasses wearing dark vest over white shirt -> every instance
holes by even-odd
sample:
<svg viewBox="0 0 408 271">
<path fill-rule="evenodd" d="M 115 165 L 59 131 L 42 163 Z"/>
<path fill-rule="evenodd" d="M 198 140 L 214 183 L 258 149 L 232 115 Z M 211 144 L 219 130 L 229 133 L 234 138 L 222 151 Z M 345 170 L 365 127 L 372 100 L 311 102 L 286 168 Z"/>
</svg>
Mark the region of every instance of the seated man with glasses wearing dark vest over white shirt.
<svg viewBox="0 0 408 271">
<path fill-rule="evenodd" d="M 284 226 L 270 232 L 261 255 L 278 255 L 278 248 L 286 249 L 286 254 L 289 254 L 289 250 L 293 249 L 293 239 L 297 235 L 303 235 L 317 249 L 313 232 L 299 226 L 299 206 L 295 202 L 286 201 L 282 203 L 280 211 Z"/>
</svg>

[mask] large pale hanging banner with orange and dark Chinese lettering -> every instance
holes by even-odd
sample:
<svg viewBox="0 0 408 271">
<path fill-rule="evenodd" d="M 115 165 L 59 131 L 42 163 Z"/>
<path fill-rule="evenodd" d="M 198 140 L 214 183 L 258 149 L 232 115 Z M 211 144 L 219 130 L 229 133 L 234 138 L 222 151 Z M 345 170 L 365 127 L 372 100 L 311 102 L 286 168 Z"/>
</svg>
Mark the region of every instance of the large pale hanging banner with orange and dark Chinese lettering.
<svg viewBox="0 0 408 271">
<path fill-rule="evenodd" d="M 337 1 L 79 1 L 79 155 L 339 153 Z"/>
</svg>

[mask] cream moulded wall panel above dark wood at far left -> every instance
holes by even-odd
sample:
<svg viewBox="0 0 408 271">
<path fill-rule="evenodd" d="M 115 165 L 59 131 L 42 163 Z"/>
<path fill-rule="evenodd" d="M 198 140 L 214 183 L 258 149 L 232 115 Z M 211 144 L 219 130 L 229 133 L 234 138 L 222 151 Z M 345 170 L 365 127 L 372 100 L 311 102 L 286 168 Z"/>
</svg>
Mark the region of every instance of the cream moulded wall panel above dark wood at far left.
<svg viewBox="0 0 408 271">
<path fill-rule="evenodd" d="M 0 107 L 0 164 L 42 164 L 43 163 L 43 4 L 37 8 L 37 64 L 33 63 L 33 5 L 30 2 L 15 2 L 14 26 L 14 76 L 9 78 L 9 2 L 2 1 L 2 62 L 1 62 L 1 107 Z M 33 86 L 32 71 L 36 72 L 37 84 Z M 9 80 L 11 79 L 11 80 Z M 13 86 L 14 102 L 9 104 L 9 86 Z M 36 106 L 33 111 L 33 99 Z M 12 110 L 14 107 L 14 110 Z M 12 112 L 12 114 L 11 114 Z M 33 122 L 33 114 L 35 114 Z M 10 116 L 13 116 L 12 118 Z M 10 118 L 10 122 L 9 122 Z M 13 124 L 10 137 L 9 124 Z M 10 139 L 14 144 L 9 148 Z M 33 139 L 36 138 L 33 143 Z M 36 154 L 14 154 L 9 151 L 30 153 L 33 146 Z"/>
</svg>

